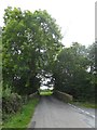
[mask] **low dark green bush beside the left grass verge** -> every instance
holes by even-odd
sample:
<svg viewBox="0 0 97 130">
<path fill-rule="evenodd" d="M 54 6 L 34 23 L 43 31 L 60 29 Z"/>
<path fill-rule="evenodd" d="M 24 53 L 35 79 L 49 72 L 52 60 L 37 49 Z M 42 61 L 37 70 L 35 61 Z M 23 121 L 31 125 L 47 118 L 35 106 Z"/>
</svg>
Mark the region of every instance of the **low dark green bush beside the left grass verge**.
<svg viewBox="0 0 97 130">
<path fill-rule="evenodd" d="M 11 114 L 16 113 L 22 108 L 22 96 L 17 93 L 11 93 L 10 89 L 6 89 L 2 95 L 2 119 L 4 120 Z"/>
</svg>

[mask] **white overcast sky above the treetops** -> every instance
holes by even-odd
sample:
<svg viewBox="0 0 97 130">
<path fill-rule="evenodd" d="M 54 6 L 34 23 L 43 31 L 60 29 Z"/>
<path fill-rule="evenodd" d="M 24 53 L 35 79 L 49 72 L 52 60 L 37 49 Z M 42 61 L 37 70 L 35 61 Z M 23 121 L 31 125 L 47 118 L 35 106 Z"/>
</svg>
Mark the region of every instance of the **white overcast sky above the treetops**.
<svg viewBox="0 0 97 130">
<path fill-rule="evenodd" d="M 3 26 L 4 9 L 8 5 L 32 12 L 46 10 L 61 27 L 66 47 L 72 42 L 87 47 L 95 41 L 95 0 L 1 0 L 0 26 Z"/>
</svg>

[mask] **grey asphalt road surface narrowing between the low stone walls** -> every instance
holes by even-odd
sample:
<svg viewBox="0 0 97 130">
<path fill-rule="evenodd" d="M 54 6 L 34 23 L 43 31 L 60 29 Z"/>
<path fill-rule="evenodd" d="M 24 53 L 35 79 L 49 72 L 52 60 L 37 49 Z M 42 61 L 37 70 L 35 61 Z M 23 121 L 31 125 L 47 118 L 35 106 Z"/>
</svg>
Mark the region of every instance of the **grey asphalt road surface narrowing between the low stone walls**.
<svg viewBox="0 0 97 130">
<path fill-rule="evenodd" d="M 28 128 L 95 128 L 95 118 L 53 96 L 42 96 Z"/>
</svg>

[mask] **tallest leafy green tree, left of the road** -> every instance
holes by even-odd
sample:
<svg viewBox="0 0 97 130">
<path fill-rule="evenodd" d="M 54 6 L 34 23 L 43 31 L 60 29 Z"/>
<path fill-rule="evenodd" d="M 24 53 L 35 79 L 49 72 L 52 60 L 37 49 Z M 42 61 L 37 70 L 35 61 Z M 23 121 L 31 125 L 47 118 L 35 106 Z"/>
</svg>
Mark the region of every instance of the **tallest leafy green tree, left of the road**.
<svg viewBox="0 0 97 130">
<path fill-rule="evenodd" d="M 23 89 L 24 93 L 36 91 L 40 86 L 38 74 L 50 69 L 61 49 L 55 20 L 46 11 L 22 12 L 9 6 L 2 36 L 4 88 L 19 93 Z"/>
</svg>

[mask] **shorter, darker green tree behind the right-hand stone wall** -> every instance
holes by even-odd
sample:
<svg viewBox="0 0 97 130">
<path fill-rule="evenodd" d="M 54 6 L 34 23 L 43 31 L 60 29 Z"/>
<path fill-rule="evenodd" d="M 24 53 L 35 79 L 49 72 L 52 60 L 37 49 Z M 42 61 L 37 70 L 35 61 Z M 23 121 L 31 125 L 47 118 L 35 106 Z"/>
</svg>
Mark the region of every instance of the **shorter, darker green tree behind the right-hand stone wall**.
<svg viewBox="0 0 97 130">
<path fill-rule="evenodd" d="M 65 48 L 54 64 L 55 89 L 72 94 L 80 101 L 95 100 L 93 75 L 87 72 L 91 61 L 85 47 L 73 43 Z"/>
</svg>

